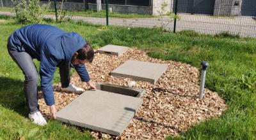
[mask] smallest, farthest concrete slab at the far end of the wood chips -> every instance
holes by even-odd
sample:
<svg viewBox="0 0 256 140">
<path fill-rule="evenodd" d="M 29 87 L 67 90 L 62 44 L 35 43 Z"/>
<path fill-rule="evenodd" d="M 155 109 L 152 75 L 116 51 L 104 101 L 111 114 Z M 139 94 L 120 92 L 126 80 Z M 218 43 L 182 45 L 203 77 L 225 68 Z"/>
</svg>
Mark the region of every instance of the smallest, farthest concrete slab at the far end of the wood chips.
<svg viewBox="0 0 256 140">
<path fill-rule="evenodd" d="M 126 52 L 129 48 L 127 46 L 116 46 L 116 45 L 106 45 L 99 48 L 99 53 L 104 53 L 106 55 L 117 55 L 120 56 Z"/>
</svg>

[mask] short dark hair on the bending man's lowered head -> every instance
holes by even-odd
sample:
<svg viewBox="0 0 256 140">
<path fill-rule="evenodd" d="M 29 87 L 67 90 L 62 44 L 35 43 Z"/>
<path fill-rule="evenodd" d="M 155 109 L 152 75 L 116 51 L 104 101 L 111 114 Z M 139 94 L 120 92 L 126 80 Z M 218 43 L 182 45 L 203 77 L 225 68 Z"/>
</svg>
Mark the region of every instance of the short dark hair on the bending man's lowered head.
<svg viewBox="0 0 256 140">
<path fill-rule="evenodd" d="M 90 44 L 86 44 L 83 46 L 83 48 L 80 48 L 79 50 L 77 50 L 77 59 L 80 60 L 84 60 L 87 59 L 89 62 L 93 61 L 93 57 L 94 57 L 94 51 L 93 48 Z"/>
</svg>

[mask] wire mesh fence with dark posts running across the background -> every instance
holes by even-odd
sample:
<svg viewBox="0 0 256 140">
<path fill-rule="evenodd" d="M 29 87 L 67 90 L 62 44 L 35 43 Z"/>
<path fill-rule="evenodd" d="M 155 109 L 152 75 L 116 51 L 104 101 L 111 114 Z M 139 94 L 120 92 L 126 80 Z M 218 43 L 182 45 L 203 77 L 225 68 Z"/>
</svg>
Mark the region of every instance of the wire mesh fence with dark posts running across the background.
<svg viewBox="0 0 256 140">
<path fill-rule="evenodd" d="M 13 4 L 10 0 L 0 2 L 2 7 Z M 51 11 L 45 17 L 54 18 L 54 0 L 41 3 L 51 3 Z M 193 30 L 204 34 L 229 32 L 256 37 L 255 0 L 58 0 L 56 8 L 72 20 L 91 24 Z M 171 16 L 166 15 L 169 12 Z"/>
</svg>

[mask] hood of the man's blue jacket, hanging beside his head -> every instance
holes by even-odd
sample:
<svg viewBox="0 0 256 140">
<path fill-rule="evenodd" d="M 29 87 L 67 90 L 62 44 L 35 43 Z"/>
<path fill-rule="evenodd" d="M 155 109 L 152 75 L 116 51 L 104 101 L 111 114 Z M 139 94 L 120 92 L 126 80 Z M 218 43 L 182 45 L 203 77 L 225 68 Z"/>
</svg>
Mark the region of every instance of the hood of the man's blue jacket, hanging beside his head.
<svg viewBox="0 0 256 140">
<path fill-rule="evenodd" d="M 70 62 L 74 53 L 86 44 L 83 37 L 76 32 L 67 32 L 67 34 L 61 36 L 61 46 L 65 54 L 65 62 Z"/>
</svg>

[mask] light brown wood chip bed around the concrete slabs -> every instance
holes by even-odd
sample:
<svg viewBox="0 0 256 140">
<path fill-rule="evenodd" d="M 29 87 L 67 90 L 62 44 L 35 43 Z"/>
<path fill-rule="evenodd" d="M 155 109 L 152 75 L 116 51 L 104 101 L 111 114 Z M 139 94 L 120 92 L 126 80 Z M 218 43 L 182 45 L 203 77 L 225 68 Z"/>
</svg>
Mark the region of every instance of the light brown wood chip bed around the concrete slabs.
<svg viewBox="0 0 256 140">
<path fill-rule="evenodd" d="M 96 139 L 164 139 L 168 135 L 176 136 L 205 119 L 220 116 L 227 108 L 225 101 L 216 92 L 206 88 L 204 99 L 198 99 L 200 73 L 195 67 L 172 60 L 153 59 L 148 57 L 146 52 L 136 48 L 129 49 L 120 57 L 95 53 L 93 63 L 86 64 L 86 67 L 94 83 L 106 82 L 127 86 L 128 81 L 134 80 L 116 78 L 109 74 L 126 60 L 168 64 L 168 69 L 155 85 L 146 81 L 136 81 L 135 87 L 145 89 L 146 93 L 142 97 L 142 106 L 122 136 L 109 136 L 90 130 Z M 71 82 L 77 87 L 83 87 L 84 90 L 88 89 L 77 73 L 72 75 Z M 39 96 L 41 112 L 49 118 L 49 108 L 42 93 Z M 79 95 L 60 92 L 59 83 L 54 85 L 54 96 L 56 108 L 60 110 Z"/>
</svg>

